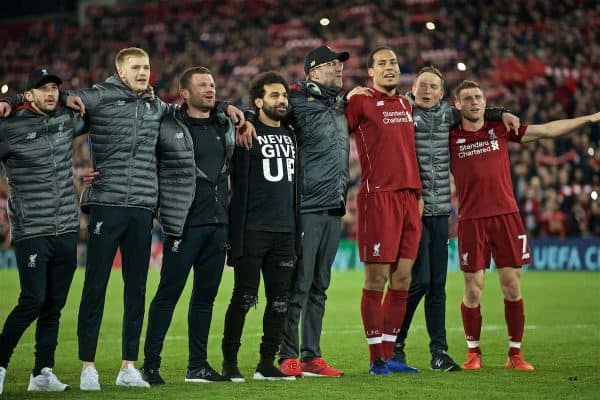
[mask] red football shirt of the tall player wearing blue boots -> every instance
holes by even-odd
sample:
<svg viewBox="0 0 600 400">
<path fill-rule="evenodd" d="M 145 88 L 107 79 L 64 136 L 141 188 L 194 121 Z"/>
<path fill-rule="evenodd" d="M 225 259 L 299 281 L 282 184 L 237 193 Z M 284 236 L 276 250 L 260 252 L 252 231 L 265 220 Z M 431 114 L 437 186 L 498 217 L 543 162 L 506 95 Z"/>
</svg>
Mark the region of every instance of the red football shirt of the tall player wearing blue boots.
<svg viewBox="0 0 600 400">
<path fill-rule="evenodd" d="M 346 105 L 360 159 L 359 192 L 420 190 L 412 107 L 402 95 L 371 90 L 373 97 L 352 96 Z"/>
</svg>

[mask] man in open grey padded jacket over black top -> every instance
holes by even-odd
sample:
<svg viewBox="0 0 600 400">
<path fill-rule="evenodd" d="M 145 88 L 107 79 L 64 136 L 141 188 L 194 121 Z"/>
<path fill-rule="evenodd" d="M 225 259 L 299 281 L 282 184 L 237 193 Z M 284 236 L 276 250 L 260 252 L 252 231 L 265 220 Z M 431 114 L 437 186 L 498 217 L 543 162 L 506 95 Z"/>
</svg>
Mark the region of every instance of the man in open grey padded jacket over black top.
<svg viewBox="0 0 600 400">
<path fill-rule="evenodd" d="M 165 234 L 160 283 L 148 311 L 143 377 L 164 383 L 160 354 L 192 267 L 186 382 L 227 381 L 207 361 L 212 310 L 225 263 L 233 121 L 215 107 L 211 72 L 192 67 L 179 79 L 181 108 L 165 116 L 158 145 L 158 219 Z"/>
</svg>

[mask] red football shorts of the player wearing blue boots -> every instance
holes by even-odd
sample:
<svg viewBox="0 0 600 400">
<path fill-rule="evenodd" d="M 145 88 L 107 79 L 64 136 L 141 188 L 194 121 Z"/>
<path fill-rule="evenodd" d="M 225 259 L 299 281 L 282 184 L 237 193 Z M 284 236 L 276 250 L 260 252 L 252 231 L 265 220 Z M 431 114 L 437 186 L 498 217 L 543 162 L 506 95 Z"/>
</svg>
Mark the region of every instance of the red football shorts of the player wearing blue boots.
<svg viewBox="0 0 600 400">
<path fill-rule="evenodd" d="M 423 226 L 414 191 L 362 193 L 356 203 L 362 262 L 395 263 L 399 258 L 417 258 Z"/>
</svg>

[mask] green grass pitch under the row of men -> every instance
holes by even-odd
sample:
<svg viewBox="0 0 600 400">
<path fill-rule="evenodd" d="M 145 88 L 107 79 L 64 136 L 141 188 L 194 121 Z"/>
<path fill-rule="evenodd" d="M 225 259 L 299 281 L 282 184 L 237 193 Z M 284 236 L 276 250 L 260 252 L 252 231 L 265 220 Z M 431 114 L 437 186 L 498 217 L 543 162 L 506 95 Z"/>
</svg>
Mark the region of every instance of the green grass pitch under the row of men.
<svg viewBox="0 0 600 400">
<path fill-rule="evenodd" d="M 77 308 L 83 270 L 78 270 L 68 303 L 63 310 L 55 372 L 71 385 L 66 393 L 28 393 L 33 364 L 34 328 L 23 335 L 8 370 L 0 399 L 598 399 L 600 398 L 600 274 L 568 272 L 525 272 L 523 293 L 526 332 L 523 352 L 535 365 L 532 373 L 508 371 L 504 367 L 508 346 L 503 302 L 497 274 L 486 275 L 482 300 L 483 368 L 456 373 L 432 372 L 429 368 L 428 336 L 422 305 L 417 310 L 408 342 L 409 364 L 420 374 L 373 377 L 367 373 L 368 350 L 360 319 L 361 271 L 335 272 L 328 292 L 321 346 L 324 356 L 345 371 L 342 378 L 304 378 L 295 382 L 184 383 L 187 366 L 187 302 L 190 286 L 182 295 L 163 352 L 161 373 L 167 384 L 151 389 L 117 388 L 120 366 L 122 280 L 113 272 L 107 294 L 98 346 L 97 367 L 102 392 L 79 390 L 80 363 L 77 360 Z M 156 291 L 159 273 L 151 271 L 147 302 Z M 220 340 L 223 316 L 233 282 L 225 271 L 219 290 L 209 339 L 209 361 L 220 370 Z M 188 282 L 190 283 L 190 282 Z M 18 276 L 15 270 L 0 271 L 0 320 L 17 301 Z M 447 329 L 449 353 L 463 362 L 465 343 L 460 321 L 462 276 L 450 273 L 447 288 Z M 247 319 L 240 368 L 251 378 L 258 359 L 261 336 L 259 306 Z M 145 333 L 145 327 L 142 337 Z M 143 348 L 143 343 L 142 343 Z M 140 349 L 141 366 L 142 349 Z"/>
</svg>

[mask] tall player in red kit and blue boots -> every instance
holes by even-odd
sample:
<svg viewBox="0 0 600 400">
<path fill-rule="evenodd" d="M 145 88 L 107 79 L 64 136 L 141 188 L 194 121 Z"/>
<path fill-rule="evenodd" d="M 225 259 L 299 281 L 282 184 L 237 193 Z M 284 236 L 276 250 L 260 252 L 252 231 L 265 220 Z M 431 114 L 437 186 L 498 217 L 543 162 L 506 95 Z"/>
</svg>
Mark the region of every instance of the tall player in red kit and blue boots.
<svg viewBox="0 0 600 400">
<path fill-rule="evenodd" d="M 412 107 L 398 94 L 400 69 L 391 48 L 375 49 L 367 66 L 373 78 L 372 96 L 352 96 L 346 118 L 362 171 L 357 239 L 365 263 L 361 314 L 369 344 L 369 372 L 418 372 L 392 358 L 422 230 Z"/>
</svg>

